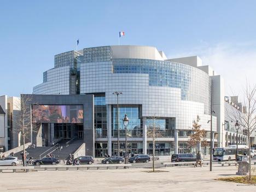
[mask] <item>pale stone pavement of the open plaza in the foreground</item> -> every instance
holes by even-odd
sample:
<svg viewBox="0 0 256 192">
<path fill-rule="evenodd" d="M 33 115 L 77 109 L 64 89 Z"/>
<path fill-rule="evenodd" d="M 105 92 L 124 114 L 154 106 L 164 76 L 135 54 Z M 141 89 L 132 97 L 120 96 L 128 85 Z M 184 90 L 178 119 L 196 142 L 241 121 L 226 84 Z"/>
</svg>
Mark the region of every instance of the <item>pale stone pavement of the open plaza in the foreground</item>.
<svg viewBox="0 0 256 192">
<path fill-rule="evenodd" d="M 0 173 L 0 191 L 256 191 L 256 185 L 220 182 L 214 179 L 235 174 L 235 166 L 177 166 L 127 170 L 33 171 Z"/>
</svg>

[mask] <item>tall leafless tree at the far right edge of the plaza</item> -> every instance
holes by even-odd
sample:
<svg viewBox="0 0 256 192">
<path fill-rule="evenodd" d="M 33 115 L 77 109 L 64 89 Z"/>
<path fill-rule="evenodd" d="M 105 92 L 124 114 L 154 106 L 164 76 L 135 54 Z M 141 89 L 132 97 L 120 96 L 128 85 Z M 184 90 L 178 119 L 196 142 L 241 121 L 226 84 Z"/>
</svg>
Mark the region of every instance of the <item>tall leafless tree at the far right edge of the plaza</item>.
<svg viewBox="0 0 256 192">
<path fill-rule="evenodd" d="M 243 89 L 243 109 L 232 110 L 232 118 L 237 120 L 243 132 L 248 137 L 248 147 L 251 149 L 251 135 L 256 130 L 256 85 L 246 83 Z M 251 179 L 251 154 L 249 154 L 249 179 Z"/>
</svg>

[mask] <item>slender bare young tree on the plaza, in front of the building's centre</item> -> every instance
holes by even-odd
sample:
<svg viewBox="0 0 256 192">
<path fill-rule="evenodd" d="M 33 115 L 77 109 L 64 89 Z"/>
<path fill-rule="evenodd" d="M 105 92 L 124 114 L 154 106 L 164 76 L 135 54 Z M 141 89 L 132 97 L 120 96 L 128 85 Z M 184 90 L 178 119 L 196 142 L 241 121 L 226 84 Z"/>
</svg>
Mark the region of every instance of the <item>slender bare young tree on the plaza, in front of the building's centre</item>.
<svg viewBox="0 0 256 192">
<path fill-rule="evenodd" d="M 160 129 L 160 125 L 156 124 L 156 117 L 152 117 L 153 122 L 149 124 L 148 130 L 147 130 L 147 136 L 149 138 L 152 138 L 152 148 L 153 148 L 153 172 L 155 172 L 155 139 L 162 136 L 162 131 Z"/>
</svg>

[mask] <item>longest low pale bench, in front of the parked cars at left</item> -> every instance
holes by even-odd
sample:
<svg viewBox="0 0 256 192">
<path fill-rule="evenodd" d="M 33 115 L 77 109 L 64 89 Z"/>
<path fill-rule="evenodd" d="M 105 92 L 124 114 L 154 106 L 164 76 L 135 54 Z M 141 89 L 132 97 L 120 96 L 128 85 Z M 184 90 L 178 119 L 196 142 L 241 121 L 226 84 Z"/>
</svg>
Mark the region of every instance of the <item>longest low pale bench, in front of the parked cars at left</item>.
<svg viewBox="0 0 256 192">
<path fill-rule="evenodd" d="M 129 168 L 131 164 L 96 164 L 96 165 L 40 165 L 34 166 L 36 170 L 90 170 L 90 169 L 97 169 L 106 168 L 107 170 L 110 167 L 118 168 Z"/>
</svg>

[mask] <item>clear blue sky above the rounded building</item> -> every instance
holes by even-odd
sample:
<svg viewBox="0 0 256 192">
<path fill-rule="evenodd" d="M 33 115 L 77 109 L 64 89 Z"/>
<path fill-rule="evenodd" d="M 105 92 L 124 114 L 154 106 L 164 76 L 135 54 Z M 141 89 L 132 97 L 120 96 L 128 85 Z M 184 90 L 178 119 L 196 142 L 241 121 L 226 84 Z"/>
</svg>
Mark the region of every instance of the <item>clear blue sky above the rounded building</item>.
<svg viewBox="0 0 256 192">
<path fill-rule="evenodd" d="M 169 57 L 201 54 L 211 63 L 219 45 L 241 46 L 243 56 L 255 50 L 255 24 L 256 1 L 2 1 L 0 95 L 31 93 L 54 55 L 75 49 L 77 38 L 79 49 L 114 45 L 125 31 L 121 44 L 153 45 Z"/>
</svg>

